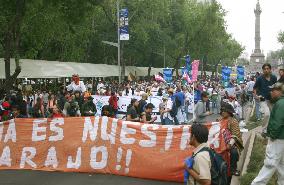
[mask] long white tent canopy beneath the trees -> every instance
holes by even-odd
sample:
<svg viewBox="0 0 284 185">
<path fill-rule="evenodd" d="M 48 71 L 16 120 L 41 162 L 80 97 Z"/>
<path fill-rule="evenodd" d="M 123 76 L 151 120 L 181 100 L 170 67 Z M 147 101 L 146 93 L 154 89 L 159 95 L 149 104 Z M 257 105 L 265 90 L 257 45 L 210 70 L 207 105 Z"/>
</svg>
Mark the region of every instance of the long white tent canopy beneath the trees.
<svg viewBox="0 0 284 185">
<path fill-rule="evenodd" d="M 80 77 L 113 77 L 118 76 L 117 65 L 91 64 L 76 62 L 59 62 L 46 60 L 20 59 L 22 68 L 18 78 L 60 78 L 79 74 Z M 11 59 L 11 74 L 15 70 L 15 60 Z M 135 76 L 147 76 L 148 67 L 126 66 L 125 76 L 129 73 Z M 163 68 L 151 68 L 151 74 L 163 72 Z M 175 73 L 173 74 L 175 76 Z M 0 59 L 0 79 L 5 78 L 4 59 Z"/>
</svg>

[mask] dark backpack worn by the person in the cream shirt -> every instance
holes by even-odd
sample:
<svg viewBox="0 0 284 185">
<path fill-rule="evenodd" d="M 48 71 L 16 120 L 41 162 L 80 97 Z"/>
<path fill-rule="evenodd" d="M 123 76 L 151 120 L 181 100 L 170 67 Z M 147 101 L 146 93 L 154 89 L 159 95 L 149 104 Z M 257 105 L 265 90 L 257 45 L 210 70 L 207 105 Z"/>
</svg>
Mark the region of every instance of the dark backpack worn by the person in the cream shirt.
<svg viewBox="0 0 284 185">
<path fill-rule="evenodd" d="M 213 149 L 204 147 L 199 152 L 208 151 L 211 160 L 211 185 L 228 184 L 228 166 L 220 154 Z M 193 155 L 195 157 L 199 152 Z"/>
</svg>

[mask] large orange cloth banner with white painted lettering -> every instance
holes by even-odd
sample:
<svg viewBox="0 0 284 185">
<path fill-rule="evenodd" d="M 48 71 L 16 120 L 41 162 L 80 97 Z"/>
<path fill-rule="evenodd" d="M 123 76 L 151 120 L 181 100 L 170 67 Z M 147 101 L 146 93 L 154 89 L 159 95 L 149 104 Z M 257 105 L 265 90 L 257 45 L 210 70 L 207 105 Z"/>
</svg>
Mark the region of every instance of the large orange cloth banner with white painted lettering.
<svg viewBox="0 0 284 185">
<path fill-rule="evenodd" d="M 224 145 L 224 124 L 210 123 L 209 143 Z M 192 154 L 190 126 L 107 117 L 15 119 L 0 123 L 0 169 L 91 172 L 183 181 Z"/>
</svg>

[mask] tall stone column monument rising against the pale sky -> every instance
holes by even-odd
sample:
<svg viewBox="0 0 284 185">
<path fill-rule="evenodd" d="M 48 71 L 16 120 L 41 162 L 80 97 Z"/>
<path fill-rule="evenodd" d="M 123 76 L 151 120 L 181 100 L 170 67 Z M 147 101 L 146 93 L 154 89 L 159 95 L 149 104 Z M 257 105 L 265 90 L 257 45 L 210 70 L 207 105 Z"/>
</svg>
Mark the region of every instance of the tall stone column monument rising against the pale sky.
<svg viewBox="0 0 284 185">
<path fill-rule="evenodd" d="M 259 71 L 262 65 L 265 63 L 265 57 L 260 49 L 260 14 L 262 10 L 260 8 L 259 0 L 257 0 L 255 14 L 255 49 L 250 56 L 250 65 L 253 71 Z"/>
</svg>

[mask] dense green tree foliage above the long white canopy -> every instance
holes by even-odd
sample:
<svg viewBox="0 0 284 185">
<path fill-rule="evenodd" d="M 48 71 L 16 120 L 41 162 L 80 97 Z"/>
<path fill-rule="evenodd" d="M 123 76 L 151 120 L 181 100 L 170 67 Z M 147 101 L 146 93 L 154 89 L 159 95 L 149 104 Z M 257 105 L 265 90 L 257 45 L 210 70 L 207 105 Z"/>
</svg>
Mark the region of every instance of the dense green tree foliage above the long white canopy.
<svg viewBox="0 0 284 185">
<path fill-rule="evenodd" d="M 206 58 L 208 66 L 231 64 L 244 49 L 226 32 L 225 11 L 216 1 L 120 1 L 129 9 L 130 40 L 122 41 L 126 65 L 162 67 L 164 48 L 169 67 L 186 54 Z M 20 58 L 116 64 L 117 49 L 102 44 L 117 40 L 116 0 L 30 0 L 25 7 Z M 15 0 L 1 0 L 1 57 L 15 8 Z"/>
</svg>

